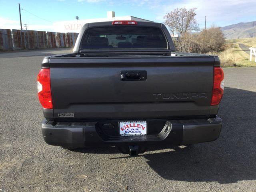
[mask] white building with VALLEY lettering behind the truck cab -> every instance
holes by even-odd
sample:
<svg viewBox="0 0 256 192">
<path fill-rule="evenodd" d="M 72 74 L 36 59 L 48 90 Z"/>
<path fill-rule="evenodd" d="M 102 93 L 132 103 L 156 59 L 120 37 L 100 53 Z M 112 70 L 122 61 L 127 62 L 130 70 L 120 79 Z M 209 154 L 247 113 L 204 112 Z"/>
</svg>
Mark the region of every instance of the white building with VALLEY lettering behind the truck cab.
<svg viewBox="0 0 256 192">
<path fill-rule="evenodd" d="M 82 26 L 84 26 L 84 24 L 86 24 L 86 23 L 114 21 L 114 20 L 135 20 L 135 21 L 153 22 L 153 21 L 149 21 L 149 20 L 146 20 L 146 19 L 137 18 L 137 17 L 134 17 L 134 16 L 116 17 L 114 11 L 108 11 L 106 18 L 95 18 L 95 19 L 85 19 L 85 20 L 54 22 L 53 27 L 54 27 L 55 32 L 75 32 L 75 33 L 79 33 Z"/>
</svg>

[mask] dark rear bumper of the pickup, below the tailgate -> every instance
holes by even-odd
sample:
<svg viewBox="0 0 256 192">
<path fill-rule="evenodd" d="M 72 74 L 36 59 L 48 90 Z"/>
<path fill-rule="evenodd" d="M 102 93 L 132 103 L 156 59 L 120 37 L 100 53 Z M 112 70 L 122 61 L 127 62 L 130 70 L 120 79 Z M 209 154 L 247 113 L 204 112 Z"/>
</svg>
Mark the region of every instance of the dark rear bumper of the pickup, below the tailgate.
<svg viewBox="0 0 256 192">
<path fill-rule="evenodd" d="M 216 140 L 222 120 L 216 118 L 167 120 L 158 134 L 147 136 L 104 135 L 99 122 L 52 122 L 43 120 L 41 129 L 44 141 L 50 145 L 74 148 L 92 146 L 122 146 L 150 144 L 196 144 Z"/>
</svg>

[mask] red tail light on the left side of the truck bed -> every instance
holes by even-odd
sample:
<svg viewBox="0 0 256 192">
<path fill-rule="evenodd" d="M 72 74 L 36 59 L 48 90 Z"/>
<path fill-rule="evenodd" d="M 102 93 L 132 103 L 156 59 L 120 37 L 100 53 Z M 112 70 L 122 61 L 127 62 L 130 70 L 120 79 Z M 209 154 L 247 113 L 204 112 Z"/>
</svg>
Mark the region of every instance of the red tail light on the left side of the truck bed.
<svg viewBox="0 0 256 192">
<path fill-rule="evenodd" d="M 43 108 L 52 109 L 50 69 L 41 69 L 37 76 L 38 98 Z"/>
</svg>

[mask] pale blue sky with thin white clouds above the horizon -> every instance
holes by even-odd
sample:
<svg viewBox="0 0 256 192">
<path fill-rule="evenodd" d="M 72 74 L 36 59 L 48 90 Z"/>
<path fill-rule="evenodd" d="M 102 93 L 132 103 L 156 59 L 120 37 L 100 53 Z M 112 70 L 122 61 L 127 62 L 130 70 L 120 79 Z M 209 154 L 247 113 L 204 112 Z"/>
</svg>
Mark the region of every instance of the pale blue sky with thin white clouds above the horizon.
<svg viewBox="0 0 256 192">
<path fill-rule="evenodd" d="M 20 3 L 22 24 L 31 30 L 51 30 L 53 22 L 104 18 L 107 11 L 116 16 L 135 16 L 164 22 L 163 16 L 175 8 L 196 7 L 196 20 L 200 28 L 226 26 L 238 22 L 256 20 L 255 0 L 0 0 L 0 28 L 19 29 L 18 3 Z M 40 17 L 36 17 L 28 12 Z"/>
</svg>

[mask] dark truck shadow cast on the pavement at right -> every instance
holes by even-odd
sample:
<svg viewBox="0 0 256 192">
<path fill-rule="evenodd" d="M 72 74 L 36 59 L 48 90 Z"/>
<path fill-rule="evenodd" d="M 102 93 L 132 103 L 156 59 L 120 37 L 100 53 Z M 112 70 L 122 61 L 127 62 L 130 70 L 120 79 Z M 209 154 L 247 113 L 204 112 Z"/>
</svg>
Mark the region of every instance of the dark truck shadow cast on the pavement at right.
<svg viewBox="0 0 256 192">
<path fill-rule="evenodd" d="M 218 113 L 223 120 L 222 132 L 216 141 L 190 147 L 172 146 L 167 152 L 154 151 L 139 156 L 143 156 L 156 173 L 168 180 L 217 181 L 221 184 L 255 180 L 255 109 L 256 92 L 225 88 Z M 160 148 L 154 146 L 150 150 Z M 84 152 L 90 153 L 88 150 Z M 102 152 L 118 153 L 118 150 L 110 148 Z"/>
</svg>

